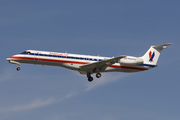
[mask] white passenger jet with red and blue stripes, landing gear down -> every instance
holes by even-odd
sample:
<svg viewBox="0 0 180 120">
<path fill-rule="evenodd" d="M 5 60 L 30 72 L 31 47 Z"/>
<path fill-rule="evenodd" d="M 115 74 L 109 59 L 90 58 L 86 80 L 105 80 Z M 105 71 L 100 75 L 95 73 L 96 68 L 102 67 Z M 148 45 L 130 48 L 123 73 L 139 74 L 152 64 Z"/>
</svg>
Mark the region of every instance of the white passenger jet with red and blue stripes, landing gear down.
<svg viewBox="0 0 180 120">
<path fill-rule="evenodd" d="M 9 63 L 18 65 L 20 63 L 60 66 L 67 69 L 78 71 L 80 74 L 87 75 L 88 81 L 93 81 L 91 74 L 101 77 L 102 72 L 140 72 L 157 67 L 157 61 L 161 50 L 167 48 L 172 43 L 158 46 L 151 46 L 141 57 L 118 56 L 102 57 L 70 53 L 48 52 L 38 50 L 26 50 L 20 54 L 8 57 Z"/>
</svg>

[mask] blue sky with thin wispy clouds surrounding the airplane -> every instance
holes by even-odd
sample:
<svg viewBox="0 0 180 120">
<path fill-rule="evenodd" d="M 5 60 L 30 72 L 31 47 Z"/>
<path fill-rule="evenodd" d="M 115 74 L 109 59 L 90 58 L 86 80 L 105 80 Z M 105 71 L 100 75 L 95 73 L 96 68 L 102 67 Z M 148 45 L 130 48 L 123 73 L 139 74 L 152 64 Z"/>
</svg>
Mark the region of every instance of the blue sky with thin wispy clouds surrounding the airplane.
<svg viewBox="0 0 180 120">
<path fill-rule="evenodd" d="M 6 0 L 0 4 L 0 120 L 179 120 L 179 0 Z M 142 56 L 158 67 L 88 82 L 62 67 L 9 64 L 25 50 Z"/>
</svg>

